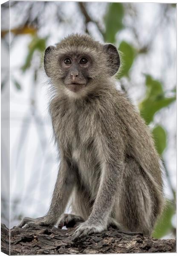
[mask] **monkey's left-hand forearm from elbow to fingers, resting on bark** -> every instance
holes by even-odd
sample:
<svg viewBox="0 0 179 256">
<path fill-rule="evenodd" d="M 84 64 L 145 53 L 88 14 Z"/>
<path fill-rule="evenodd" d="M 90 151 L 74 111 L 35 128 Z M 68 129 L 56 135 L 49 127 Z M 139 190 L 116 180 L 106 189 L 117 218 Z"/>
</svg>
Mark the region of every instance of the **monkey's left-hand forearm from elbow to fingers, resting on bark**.
<svg viewBox="0 0 179 256">
<path fill-rule="evenodd" d="M 65 210 L 74 183 L 75 172 L 73 172 L 67 161 L 62 159 L 48 213 L 40 218 L 23 218 L 23 221 L 21 221 L 18 227 L 25 225 L 25 227 L 31 227 L 33 225 L 49 226 L 56 224 L 58 218 Z"/>
</svg>

